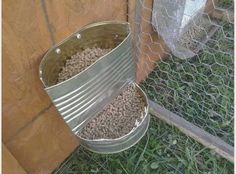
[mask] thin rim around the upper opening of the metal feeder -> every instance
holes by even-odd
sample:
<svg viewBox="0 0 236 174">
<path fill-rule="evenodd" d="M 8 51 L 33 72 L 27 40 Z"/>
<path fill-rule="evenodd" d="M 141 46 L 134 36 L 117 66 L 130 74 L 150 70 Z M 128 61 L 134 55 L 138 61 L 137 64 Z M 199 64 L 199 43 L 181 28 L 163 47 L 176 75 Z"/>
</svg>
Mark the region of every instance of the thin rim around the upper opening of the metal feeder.
<svg viewBox="0 0 236 174">
<path fill-rule="evenodd" d="M 72 37 L 77 37 L 77 35 L 86 30 L 86 29 L 89 29 L 89 28 L 92 28 L 92 27 L 95 27 L 95 26 L 101 26 L 101 25 L 106 25 L 106 24 L 123 24 L 123 25 L 127 25 L 127 28 L 129 30 L 127 36 L 122 40 L 122 42 L 120 42 L 115 48 L 112 48 L 111 51 L 109 51 L 108 53 L 106 53 L 105 55 L 101 56 L 99 59 L 97 59 L 94 63 L 92 63 L 91 65 L 89 65 L 87 68 L 85 68 L 83 71 L 77 73 L 76 75 L 70 77 L 69 79 L 65 80 L 65 81 L 62 81 L 60 83 L 57 83 L 57 84 L 54 84 L 54 85 L 51 85 L 51 86 L 47 86 L 45 85 L 45 82 L 43 80 L 43 76 L 42 76 L 42 64 L 43 62 L 47 59 L 47 56 L 50 52 L 52 52 L 53 50 L 56 50 L 57 47 L 59 47 L 60 45 L 62 45 L 63 43 L 69 41 Z M 41 82 L 43 83 L 44 85 L 44 89 L 45 90 L 49 90 L 49 89 L 53 89 L 53 88 L 56 88 L 58 86 L 60 86 L 61 84 L 64 84 L 64 83 L 67 83 L 69 81 L 72 81 L 73 79 L 75 79 L 76 77 L 80 76 L 81 74 L 83 74 L 84 72 L 86 72 L 88 69 L 92 68 L 97 62 L 101 61 L 104 57 L 107 57 L 107 55 L 111 54 L 113 51 L 117 50 L 130 36 L 131 36 L 131 29 L 130 29 L 130 23 L 129 22 L 124 22 L 124 21 L 102 21 L 102 22 L 96 22 L 96 23 L 91 23 L 91 24 L 88 24 L 84 27 L 82 27 L 81 29 L 79 29 L 78 31 L 74 32 L 73 34 L 71 34 L 70 36 L 66 37 L 65 39 L 63 39 L 62 41 L 60 41 L 59 43 L 55 44 L 53 47 L 51 47 L 47 53 L 43 56 L 40 64 L 39 64 L 39 78 L 41 80 Z"/>
</svg>

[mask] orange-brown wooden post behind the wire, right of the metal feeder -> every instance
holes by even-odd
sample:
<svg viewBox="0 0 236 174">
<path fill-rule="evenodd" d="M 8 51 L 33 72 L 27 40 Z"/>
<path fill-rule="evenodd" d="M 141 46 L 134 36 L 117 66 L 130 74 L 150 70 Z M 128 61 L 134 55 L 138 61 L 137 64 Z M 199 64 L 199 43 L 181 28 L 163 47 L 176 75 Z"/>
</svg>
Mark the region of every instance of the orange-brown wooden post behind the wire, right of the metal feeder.
<svg viewBox="0 0 236 174">
<path fill-rule="evenodd" d="M 135 3 L 129 0 L 128 5 L 129 9 L 132 9 L 129 10 L 129 22 L 135 26 L 132 32 L 134 32 L 137 62 L 136 80 L 141 82 L 155 68 L 155 62 L 168 54 L 168 49 L 151 23 L 153 0 L 135 1 Z"/>
</svg>

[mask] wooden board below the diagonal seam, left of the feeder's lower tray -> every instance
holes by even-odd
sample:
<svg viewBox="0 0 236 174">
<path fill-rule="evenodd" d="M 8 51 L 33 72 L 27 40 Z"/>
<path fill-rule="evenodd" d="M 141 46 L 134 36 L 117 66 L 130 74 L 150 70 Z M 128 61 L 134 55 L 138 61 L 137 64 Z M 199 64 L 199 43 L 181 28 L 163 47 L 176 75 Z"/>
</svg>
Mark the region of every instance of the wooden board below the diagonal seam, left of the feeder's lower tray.
<svg viewBox="0 0 236 174">
<path fill-rule="evenodd" d="M 79 144 L 52 106 L 6 146 L 28 173 L 51 173 Z"/>
</svg>

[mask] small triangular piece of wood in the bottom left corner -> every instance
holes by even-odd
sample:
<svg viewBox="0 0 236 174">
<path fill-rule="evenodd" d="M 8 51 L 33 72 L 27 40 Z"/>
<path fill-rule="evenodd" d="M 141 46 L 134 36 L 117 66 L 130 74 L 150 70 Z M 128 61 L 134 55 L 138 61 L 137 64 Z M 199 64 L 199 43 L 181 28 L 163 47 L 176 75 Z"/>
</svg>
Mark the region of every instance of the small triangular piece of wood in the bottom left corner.
<svg viewBox="0 0 236 174">
<path fill-rule="evenodd" d="M 2 144 L 2 172 L 4 174 L 26 174 L 26 171 L 4 144 Z"/>
</svg>

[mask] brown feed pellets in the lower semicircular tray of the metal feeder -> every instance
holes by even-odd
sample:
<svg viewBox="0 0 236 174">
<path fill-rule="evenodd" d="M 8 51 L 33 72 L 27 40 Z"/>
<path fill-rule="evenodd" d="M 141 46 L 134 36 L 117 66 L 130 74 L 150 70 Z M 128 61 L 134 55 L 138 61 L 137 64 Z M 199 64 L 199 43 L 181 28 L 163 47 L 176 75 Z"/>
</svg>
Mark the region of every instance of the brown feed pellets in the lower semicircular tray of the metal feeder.
<svg viewBox="0 0 236 174">
<path fill-rule="evenodd" d="M 129 133 L 143 119 L 145 102 L 131 84 L 79 133 L 87 139 L 114 139 Z"/>
</svg>

